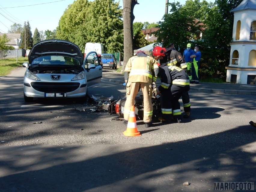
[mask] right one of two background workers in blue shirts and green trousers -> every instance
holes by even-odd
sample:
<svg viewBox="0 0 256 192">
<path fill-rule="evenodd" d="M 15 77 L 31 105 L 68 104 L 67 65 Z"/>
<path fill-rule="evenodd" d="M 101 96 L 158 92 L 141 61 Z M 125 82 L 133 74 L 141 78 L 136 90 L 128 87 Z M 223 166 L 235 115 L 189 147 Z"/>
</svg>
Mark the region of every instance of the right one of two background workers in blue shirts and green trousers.
<svg viewBox="0 0 256 192">
<path fill-rule="evenodd" d="M 190 58 L 193 59 L 191 63 L 191 75 L 192 75 L 192 83 L 198 84 L 199 83 L 198 69 L 200 66 L 200 59 L 201 59 L 200 47 L 198 45 L 195 46 L 194 52 L 195 54 L 190 56 Z"/>
</svg>

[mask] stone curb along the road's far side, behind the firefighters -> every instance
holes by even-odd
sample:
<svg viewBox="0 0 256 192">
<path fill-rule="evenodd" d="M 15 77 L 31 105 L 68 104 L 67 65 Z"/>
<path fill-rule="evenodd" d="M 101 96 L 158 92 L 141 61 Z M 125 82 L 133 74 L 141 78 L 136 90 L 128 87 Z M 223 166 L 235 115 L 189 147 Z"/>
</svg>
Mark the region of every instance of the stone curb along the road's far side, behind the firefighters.
<svg viewBox="0 0 256 192">
<path fill-rule="evenodd" d="M 111 82 L 115 84 L 123 84 L 124 81 L 114 80 L 114 79 L 101 79 L 102 81 Z M 191 92 L 203 92 L 203 93 L 224 93 L 233 95 L 256 95 L 256 91 L 248 90 L 223 90 L 223 89 L 206 89 L 206 88 L 195 88 L 190 87 Z"/>
</svg>

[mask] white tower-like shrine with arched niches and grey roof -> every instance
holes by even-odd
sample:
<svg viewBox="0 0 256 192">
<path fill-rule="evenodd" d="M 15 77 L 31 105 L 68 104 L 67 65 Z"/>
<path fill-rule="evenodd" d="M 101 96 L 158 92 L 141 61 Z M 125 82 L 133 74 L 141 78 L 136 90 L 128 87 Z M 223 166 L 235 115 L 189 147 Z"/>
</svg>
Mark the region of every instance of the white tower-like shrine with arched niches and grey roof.
<svg viewBox="0 0 256 192">
<path fill-rule="evenodd" d="M 243 0 L 234 12 L 227 82 L 255 84 L 256 81 L 256 0 Z"/>
</svg>

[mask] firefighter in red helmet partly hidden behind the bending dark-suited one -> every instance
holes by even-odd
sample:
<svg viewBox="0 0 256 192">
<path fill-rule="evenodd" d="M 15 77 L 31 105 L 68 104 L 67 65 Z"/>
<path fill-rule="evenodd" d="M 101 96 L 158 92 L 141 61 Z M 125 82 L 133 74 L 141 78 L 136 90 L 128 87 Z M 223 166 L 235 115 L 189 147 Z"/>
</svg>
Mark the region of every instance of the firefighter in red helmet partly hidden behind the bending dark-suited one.
<svg viewBox="0 0 256 192">
<path fill-rule="evenodd" d="M 162 53 L 160 53 L 160 51 Z M 154 53 L 155 52 L 155 53 Z M 172 50 L 170 48 L 164 48 L 160 46 L 156 46 L 153 49 L 153 56 L 161 54 L 159 57 L 160 64 L 167 65 L 167 66 L 177 66 L 187 72 L 187 63 L 185 62 L 181 53 L 176 50 Z M 183 115 L 184 118 L 190 117 L 190 98 L 188 92 L 182 93 L 182 102 L 185 114 Z"/>
</svg>

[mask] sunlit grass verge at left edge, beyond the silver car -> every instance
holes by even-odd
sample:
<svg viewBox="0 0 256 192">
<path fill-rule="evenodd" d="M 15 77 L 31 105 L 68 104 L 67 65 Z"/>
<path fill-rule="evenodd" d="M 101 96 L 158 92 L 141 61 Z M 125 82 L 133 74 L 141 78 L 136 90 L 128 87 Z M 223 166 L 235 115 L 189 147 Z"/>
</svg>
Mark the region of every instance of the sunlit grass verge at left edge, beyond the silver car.
<svg viewBox="0 0 256 192">
<path fill-rule="evenodd" d="M 18 57 L 18 62 L 17 58 L 0 59 L 0 76 L 8 75 L 11 70 L 28 61 L 28 57 Z"/>
</svg>

